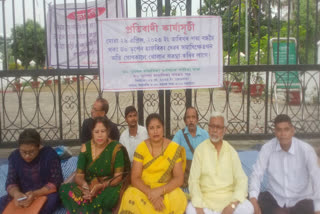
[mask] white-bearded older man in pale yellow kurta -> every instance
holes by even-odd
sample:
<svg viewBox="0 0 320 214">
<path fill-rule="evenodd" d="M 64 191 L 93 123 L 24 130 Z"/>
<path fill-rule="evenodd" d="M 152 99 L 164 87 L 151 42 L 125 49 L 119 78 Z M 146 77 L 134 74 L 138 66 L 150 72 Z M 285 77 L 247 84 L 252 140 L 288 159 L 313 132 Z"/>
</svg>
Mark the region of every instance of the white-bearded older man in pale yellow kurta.
<svg viewBox="0 0 320 214">
<path fill-rule="evenodd" d="M 187 214 L 253 214 L 253 206 L 246 199 L 248 178 L 238 153 L 223 140 L 224 116 L 214 112 L 208 126 L 210 138 L 194 152 Z"/>
</svg>

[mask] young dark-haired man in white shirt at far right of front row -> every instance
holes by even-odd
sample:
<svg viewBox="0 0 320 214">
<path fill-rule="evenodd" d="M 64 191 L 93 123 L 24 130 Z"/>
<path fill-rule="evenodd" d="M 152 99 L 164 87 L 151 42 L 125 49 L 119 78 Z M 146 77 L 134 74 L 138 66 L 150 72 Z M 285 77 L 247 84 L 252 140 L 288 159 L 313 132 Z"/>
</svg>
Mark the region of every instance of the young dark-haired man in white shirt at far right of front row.
<svg viewBox="0 0 320 214">
<path fill-rule="evenodd" d="M 250 177 L 255 214 L 319 214 L 320 174 L 314 149 L 293 137 L 288 115 L 278 115 L 274 125 L 276 138 L 263 145 Z M 260 192 L 265 173 L 267 191 Z"/>
</svg>

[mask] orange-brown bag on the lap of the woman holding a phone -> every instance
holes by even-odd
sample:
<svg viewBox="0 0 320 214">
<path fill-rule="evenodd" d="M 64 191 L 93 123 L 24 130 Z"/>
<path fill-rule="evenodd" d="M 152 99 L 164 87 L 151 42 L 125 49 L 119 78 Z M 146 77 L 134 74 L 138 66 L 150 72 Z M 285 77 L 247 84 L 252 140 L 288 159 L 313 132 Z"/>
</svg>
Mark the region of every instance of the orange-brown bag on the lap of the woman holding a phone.
<svg viewBox="0 0 320 214">
<path fill-rule="evenodd" d="M 17 207 L 14 204 L 14 200 L 11 200 L 4 209 L 3 214 L 38 214 L 46 201 L 47 196 L 40 196 L 32 202 L 30 207 L 25 208 Z"/>
</svg>

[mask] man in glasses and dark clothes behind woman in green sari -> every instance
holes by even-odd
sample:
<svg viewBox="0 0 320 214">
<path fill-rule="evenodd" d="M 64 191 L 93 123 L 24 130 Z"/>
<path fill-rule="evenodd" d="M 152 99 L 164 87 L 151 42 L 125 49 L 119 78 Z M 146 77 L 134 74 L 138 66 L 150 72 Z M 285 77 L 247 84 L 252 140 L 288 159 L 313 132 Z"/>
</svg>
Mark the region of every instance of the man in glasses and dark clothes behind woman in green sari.
<svg viewBox="0 0 320 214">
<path fill-rule="evenodd" d="M 81 137 L 80 137 L 81 143 L 85 143 L 91 140 L 92 138 L 91 129 L 93 125 L 93 119 L 96 117 L 107 118 L 108 110 L 109 110 L 108 101 L 102 97 L 97 98 L 91 108 L 91 118 L 85 119 L 82 123 Z M 110 138 L 112 140 L 119 141 L 120 133 L 117 125 L 109 119 L 108 119 L 108 122 L 110 125 L 110 134 L 109 134 Z"/>
</svg>

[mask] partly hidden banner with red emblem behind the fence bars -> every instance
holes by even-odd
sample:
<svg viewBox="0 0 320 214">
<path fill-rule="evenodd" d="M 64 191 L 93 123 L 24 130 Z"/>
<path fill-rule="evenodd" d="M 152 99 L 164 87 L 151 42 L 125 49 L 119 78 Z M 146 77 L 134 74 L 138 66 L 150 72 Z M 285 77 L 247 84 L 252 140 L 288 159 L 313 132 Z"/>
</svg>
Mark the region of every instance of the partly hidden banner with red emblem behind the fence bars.
<svg viewBox="0 0 320 214">
<path fill-rule="evenodd" d="M 118 2 L 116 2 L 118 1 Z M 106 10 L 106 2 L 108 10 Z M 118 10 L 118 11 L 117 11 Z M 108 12 L 108 15 L 107 15 Z M 48 66 L 98 67 L 96 17 L 125 17 L 124 0 L 50 4 L 47 14 Z"/>
</svg>

